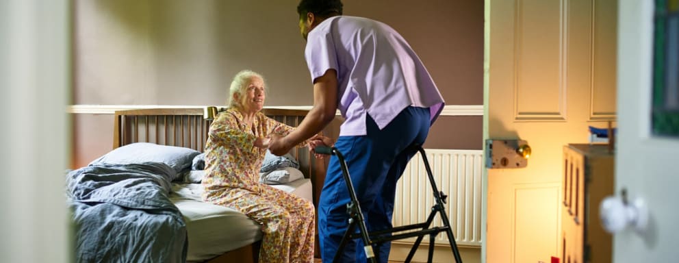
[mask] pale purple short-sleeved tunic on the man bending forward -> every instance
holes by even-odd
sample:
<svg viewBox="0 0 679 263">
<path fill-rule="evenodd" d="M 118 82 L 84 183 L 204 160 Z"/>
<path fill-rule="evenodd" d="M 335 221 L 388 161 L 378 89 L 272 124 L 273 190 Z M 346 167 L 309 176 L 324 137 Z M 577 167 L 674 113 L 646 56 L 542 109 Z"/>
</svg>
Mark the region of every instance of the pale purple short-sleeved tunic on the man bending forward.
<svg viewBox="0 0 679 263">
<path fill-rule="evenodd" d="M 312 81 L 337 71 L 340 136 L 366 135 L 366 114 L 380 129 L 412 105 L 429 108 L 431 123 L 444 99 L 422 61 L 392 27 L 368 18 L 333 16 L 307 36 Z"/>
</svg>

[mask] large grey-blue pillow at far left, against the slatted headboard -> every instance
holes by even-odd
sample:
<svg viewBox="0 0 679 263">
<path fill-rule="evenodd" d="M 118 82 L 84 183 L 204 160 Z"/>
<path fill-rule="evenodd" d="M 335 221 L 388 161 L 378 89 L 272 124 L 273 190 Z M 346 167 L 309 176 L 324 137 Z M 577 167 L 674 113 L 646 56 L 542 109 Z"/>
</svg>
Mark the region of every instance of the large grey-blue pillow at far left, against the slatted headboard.
<svg viewBox="0 0 679 263">
<path fill-rule="evenodd" d="M 156 145 L 149 142 L 135 142 L 118 147 L 90 162 L 94 164 L 140 164 L 142 162 L 162 162 L 179 174 L 189 168 L 199 151 L 185 147 Z"/>
</svg>

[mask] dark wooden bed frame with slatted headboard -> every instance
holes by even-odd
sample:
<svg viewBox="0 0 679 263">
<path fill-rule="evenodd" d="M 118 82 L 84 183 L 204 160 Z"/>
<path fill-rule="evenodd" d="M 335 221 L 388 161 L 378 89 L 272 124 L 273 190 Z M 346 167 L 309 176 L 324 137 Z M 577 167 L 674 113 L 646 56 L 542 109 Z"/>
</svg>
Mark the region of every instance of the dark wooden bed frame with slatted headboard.
<svg viewBox="0 0 679 263">
<path fill-rule="evenodd" d="M 140 110 L 118 110 L 115 112 L 113 148 L 133 142 L 153 142 L 158 145 L 187 147 L 200 151 L 205 150 L 207 132 L 212 121 L 203 118 L 204 108 L 159 108 Z M 223 108 L 220 108 L 223 110 Z M 302 122 L 307 110 L 286 110 L 267 108 L 264 114 L 275 120 L 297 127 Z M 340 117 L 324 129 L 322 134 L 336 139 L 339 135 Z M 290 151 L 300 164 L 305 178 L 311 179 L 313 188 L 313 204 L 318 207 L 318 197 L 325 179 L 328 159 L 316 160 L 306 147 L 294 148 Z M 316 231 L 318 233 L 318 231 Z M 318 235 L 318 234 L 317 234 Z M 219 255 L 209 263 L 219 262 L 257 262 L 259 244 L 241 247 Z M 320 258 L 318 236 L 316 237 L 316 258 Z"/>
</svg>

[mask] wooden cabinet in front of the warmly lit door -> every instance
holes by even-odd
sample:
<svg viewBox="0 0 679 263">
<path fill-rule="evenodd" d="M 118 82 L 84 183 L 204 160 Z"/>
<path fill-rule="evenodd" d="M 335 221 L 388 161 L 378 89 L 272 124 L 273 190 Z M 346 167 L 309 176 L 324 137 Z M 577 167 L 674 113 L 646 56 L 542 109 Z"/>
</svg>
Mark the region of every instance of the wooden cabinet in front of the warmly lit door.
<svg viewBox="0 0 679 263">
<path fill-rule="evenodd" d="M 600 224 L 599 203 L 613 195 L 615 156 L 608 145 L 563 147 L 561 262 L 611 262 L 613 238 Z"/>
</svg>

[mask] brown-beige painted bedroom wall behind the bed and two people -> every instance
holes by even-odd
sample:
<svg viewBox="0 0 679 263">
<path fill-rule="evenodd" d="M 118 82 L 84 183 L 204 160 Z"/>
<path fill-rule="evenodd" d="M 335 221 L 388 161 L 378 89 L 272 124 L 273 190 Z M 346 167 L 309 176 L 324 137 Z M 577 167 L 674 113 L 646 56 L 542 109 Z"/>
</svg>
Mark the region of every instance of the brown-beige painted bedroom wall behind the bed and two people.
<svg viewBox="0 0 679 263">
<path fill-rule="evenodd" d="M 231 77 L 251 68 L 267 79 L 267 105 L 311 105 L 297 3 L 75 0 L 73 103 L 221 105 Z M 345 0 L 344 14 L 401 32 L 447 105 L 483 103 L 483 1 Z M 111 115 L 78 115 L 74 165 L 112 144 Z M 481 131 L 481 116 L 443 116 L 425 146 L 481 149 Z"/>
</svg>

